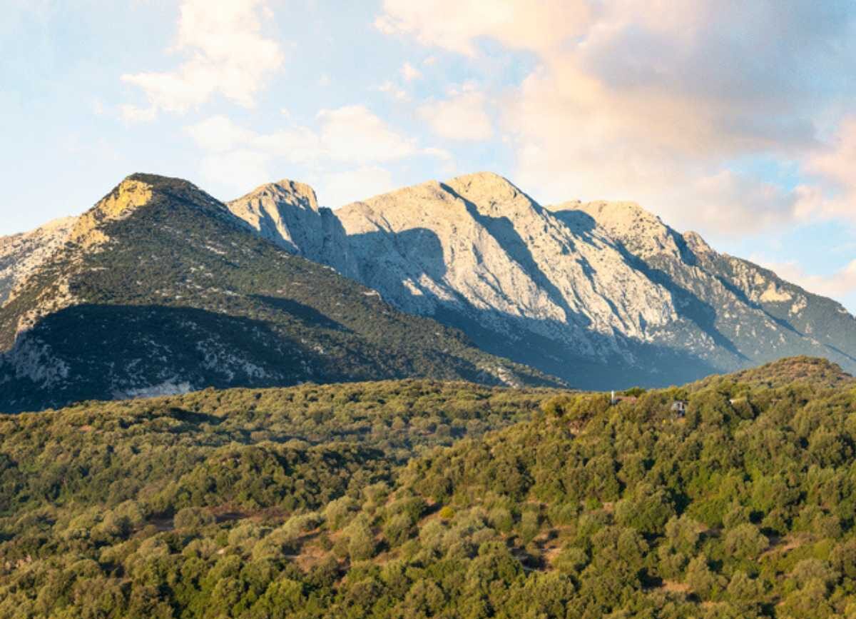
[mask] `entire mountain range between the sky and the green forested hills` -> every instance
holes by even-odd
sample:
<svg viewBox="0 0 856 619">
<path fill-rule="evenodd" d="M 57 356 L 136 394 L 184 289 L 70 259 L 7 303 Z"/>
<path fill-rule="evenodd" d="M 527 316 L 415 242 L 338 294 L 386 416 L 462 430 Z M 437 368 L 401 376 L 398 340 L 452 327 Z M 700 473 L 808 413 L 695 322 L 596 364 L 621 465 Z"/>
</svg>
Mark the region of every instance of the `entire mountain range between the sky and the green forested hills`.
<svg viewBox="0 0 856 619">
<path fill-rule="evenodd" d="M 481 172 L 319 207 L 135 174 L 0 238 L 0 410 L 419 376 L 662 386 L 811 355 L 856 319 L 632 202 L 542 206 Z"/>
</svg>

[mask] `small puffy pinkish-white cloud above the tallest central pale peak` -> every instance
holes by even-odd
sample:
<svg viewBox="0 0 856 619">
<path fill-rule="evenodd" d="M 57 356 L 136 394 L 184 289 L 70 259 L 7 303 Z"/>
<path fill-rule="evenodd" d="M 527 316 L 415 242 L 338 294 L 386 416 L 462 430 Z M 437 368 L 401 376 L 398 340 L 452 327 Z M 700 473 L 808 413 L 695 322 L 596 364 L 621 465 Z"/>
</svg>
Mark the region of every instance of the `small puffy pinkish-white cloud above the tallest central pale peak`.
<svg viewBox="0 0 856 619">
<path fill-rule="evenodd" d="M 484 105 L 483 93 L 465 92 L 452 99 L 420 105 L 417 113 L 437 135 L 448 140 L 484 141 L 493 135 Z"/>
</svg>

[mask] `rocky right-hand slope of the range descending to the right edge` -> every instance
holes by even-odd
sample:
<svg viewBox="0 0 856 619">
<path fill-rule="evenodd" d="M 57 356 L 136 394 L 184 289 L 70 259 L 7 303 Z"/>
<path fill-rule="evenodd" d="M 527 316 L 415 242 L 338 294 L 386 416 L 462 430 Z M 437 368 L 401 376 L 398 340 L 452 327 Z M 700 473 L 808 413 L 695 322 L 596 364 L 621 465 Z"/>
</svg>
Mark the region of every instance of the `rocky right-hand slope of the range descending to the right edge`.
<svg viewBox="0 0 856 619">
<path fill-rule="evenodd" d="M 669 289 L 693 331 L 710 337 L 712 348 L 696 340 L 687 340 L 687 347 L 716 370 L 806 354 L 856 370 L 856 320 L 840 303 L 720 254 L 698 233 L 681 235 L 636 205 L 593 202 L 579 209 L 637 268 Z"/>
</svg>

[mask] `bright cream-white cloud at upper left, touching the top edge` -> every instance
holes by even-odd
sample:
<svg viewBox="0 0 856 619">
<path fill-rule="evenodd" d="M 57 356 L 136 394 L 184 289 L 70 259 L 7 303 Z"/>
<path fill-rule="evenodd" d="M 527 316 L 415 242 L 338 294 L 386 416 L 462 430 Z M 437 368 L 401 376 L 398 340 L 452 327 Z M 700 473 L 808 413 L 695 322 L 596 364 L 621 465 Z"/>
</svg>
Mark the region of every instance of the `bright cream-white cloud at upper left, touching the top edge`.
<svg viewBox="0 0 856 619">
<path fill-rule="evenodd" d="M 244 107 L 253 107 L 265 81 L 282 66 L 282 46 L 262 35 L 264 0 L 183 0 L 178 36 L 170 52 L 185 55 L 170 71 L 122 75 L 140 87 L 148 105 L 123 105 L 128 121 L 146 121 L 158 111 L 185 112 L 214 94 Z"/>
</svg>

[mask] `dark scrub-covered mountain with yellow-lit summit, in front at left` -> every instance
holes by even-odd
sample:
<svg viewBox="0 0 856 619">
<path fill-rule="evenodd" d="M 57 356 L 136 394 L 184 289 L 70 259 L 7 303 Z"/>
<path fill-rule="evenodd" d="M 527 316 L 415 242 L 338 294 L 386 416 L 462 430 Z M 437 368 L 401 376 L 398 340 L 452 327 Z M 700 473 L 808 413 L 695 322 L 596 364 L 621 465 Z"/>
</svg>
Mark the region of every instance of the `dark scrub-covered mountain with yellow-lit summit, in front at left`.
<svg viewBox="0 0 856 619">
<path fill-rule="evenodd" d="M 208 386 L 555 384 L 259 237 L 180 179 L 126 178 L 55 245 L 0 308 L 5 412 Z"/>
</svg>

